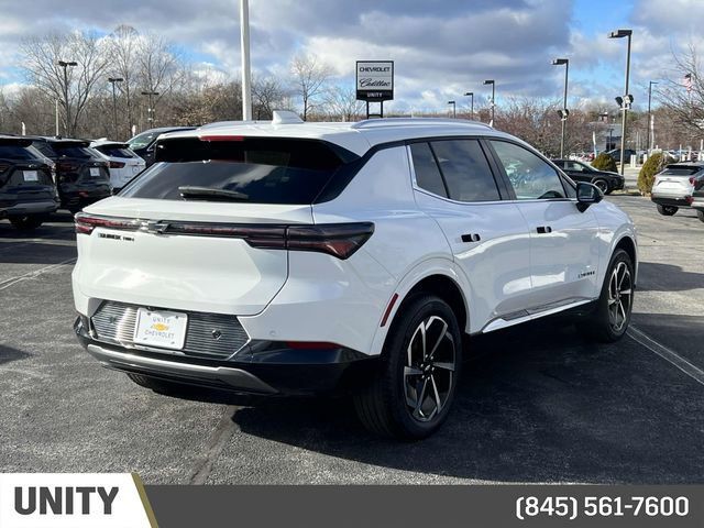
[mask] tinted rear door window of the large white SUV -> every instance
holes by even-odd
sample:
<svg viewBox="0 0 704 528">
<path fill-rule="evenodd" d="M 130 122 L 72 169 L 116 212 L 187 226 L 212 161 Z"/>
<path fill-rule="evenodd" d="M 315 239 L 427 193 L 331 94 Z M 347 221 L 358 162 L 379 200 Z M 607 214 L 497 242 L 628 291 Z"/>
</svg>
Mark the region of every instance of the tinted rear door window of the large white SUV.
<svg viewBox="0 0 704 528">
<path fill-rule="evenodd" d="M 450 140 L 431 143 L 440 172 L 458 201 L 501 200 L 496 180 L 477 140 Z"/>
</svg>

